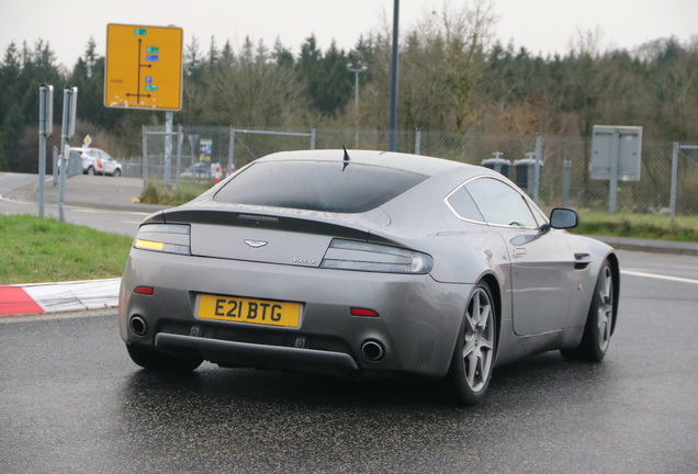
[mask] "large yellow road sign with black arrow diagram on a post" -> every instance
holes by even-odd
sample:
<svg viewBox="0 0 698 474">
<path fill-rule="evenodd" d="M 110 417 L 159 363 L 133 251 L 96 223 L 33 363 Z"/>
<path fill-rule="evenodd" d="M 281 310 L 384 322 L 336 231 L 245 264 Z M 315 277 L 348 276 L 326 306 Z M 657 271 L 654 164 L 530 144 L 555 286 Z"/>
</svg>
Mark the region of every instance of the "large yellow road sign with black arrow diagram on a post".
<svg viewBox="0 0 698 474">
<path fill-rule="evenodd" d="M 106 25 L 104 105 L 180 110 L 182 36 L 180 27 Z"/>
</svg>

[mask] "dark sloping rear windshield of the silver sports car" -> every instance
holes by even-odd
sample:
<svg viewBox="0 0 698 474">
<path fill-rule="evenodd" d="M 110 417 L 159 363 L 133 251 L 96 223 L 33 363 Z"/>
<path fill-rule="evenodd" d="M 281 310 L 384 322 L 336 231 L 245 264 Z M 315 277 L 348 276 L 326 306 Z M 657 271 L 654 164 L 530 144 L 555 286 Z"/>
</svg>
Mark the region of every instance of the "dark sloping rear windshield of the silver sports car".
<svg viewBox="0 0 698 474">
<path fill-rule="evenodd" d="M 342 161 L 269 161 L 239 172 L 214 201 L 336 213 L 371 211 L 427 176 Z"/>
</svg>

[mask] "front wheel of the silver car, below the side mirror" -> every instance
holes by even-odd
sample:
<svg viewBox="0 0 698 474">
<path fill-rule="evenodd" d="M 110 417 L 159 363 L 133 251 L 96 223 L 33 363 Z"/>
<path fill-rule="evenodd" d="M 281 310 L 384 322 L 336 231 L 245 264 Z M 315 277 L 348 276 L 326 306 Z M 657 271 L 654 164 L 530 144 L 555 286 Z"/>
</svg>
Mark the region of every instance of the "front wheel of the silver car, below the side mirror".
<svg viewBox="0 0 698 474">
<path fill-rule="evenodd" d="M 600 362 L 606 357 L 613 330 L 613 274 L 608 260 L 599 271 L 582 342 L 574 349 L 562 349 L 565 359 Z"/>
</svg>

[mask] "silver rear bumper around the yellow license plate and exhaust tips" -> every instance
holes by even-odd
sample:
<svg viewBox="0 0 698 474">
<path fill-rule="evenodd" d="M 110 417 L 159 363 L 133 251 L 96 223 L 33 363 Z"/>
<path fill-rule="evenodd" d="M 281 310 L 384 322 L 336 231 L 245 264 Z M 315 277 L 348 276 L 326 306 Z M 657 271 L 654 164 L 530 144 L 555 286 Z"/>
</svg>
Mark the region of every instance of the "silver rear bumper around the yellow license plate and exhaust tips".
<svg viewBox="0 0 698 474">
<path fill-rule="evenodd" d="M 153 295 L 134 293 L 139 285 Z M 198 351 L 222 365 L 322 372 L 409 372 L 442 376 L 449 368 L 472 285 L 429 275 L 367 273 L 133 249 L 120 295 L 126 343 Z M 297 302 L 297 328 L 198 317 L 200 295 Z M 379 317 L 352 316 L 351 308 Z M 147 326 L 136 335 L 134 316 Z M 382 353 L 365 357 L 364 345 Z M 324 370 L 324 369 L 327 370 Z"/>
</svg>

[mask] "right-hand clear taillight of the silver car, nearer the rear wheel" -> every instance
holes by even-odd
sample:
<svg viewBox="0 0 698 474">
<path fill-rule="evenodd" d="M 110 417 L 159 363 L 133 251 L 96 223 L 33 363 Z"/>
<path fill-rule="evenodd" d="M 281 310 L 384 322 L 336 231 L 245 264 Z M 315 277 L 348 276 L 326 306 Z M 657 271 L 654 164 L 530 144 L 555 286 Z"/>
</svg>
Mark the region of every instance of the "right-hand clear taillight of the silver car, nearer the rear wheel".
<svg viewBox="0 0 698 474">
<path fill-rule="evenodd" d="M 382 273 L 426 274 L 434 259 L 414 250 L 356 240 L 333 239 L 320 268 Z"/>
</svg>

